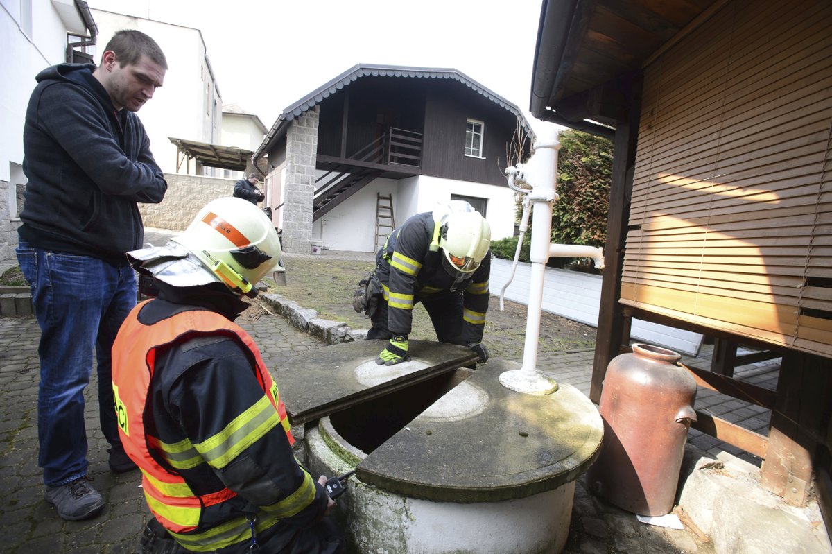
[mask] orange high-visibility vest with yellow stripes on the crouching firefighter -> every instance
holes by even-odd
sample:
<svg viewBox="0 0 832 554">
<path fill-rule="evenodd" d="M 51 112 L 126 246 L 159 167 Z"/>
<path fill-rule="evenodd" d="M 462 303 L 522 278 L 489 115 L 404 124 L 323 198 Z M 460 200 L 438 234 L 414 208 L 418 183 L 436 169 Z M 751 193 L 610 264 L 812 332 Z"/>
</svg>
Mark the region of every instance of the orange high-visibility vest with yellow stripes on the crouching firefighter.
<svg viewBox="0 0 832 554">
<path fill-rule="evenodd" d="M 142 488 L 153 515 L 171 532 L 189 532 L 201 522 L 203 507 L 225 502 L 235 497 L 236 493 L 225 487 L 208 495 L 196 496 L 181 475 L 161 467 L 151 456 L 151 445 L 159 441 L 146 434 L 144 417 L 157 349 L 201 335 L 236 335 L 254 354 L 257 380 L 277 410 L 290 444 L 295 443 L 295 439 L 290 433 L 289 418 L 280 401 L 277 385 L 265 368 L 254 340 L 245 330 L 206 309 L 184 311 L 152 325 L 141 324 L 138 314 L 151 301 L 146 300 L 132 309 L 112 348 L 112 387 L 119 435 L 126 453 L 141 469 Z"/>
</svg>

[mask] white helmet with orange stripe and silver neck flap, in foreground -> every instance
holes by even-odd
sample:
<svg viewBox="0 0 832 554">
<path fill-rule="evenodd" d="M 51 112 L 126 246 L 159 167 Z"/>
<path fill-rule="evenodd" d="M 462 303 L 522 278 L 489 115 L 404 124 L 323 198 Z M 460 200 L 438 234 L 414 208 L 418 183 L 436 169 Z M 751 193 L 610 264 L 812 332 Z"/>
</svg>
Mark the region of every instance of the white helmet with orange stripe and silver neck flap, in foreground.
<svg viewBox="0 0 832 554">
<path fill-rule="evenodd" d="M 164 247 L 128 252 L 136 270 L 174 286 L 220 281 L 237 294 L 257 295 L 269 273 L 285 284 L 280 239 L 256 205 L 241 198 L 211 200 Z"/>
</svg>

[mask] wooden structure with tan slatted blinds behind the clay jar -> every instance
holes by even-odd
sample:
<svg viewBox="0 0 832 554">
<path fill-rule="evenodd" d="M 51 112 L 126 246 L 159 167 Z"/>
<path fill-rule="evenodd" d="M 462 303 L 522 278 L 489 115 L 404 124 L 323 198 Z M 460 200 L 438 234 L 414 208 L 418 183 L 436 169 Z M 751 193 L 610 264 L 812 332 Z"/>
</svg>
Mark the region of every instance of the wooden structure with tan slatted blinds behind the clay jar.
<svg viewBox="0 0 832 554">
<path fill-rule="evenodd" d="M 615 141 L 593 400 L 632 317 L 716 337 L 696 378 L 770 431 L 700 428 L 789 502 L 814 479 L 829 527 L 832 2 L 545 0 L 531 110 Z M 776 391 L 731 378 L 735 344 L 781 357 Z"/>
</svg>

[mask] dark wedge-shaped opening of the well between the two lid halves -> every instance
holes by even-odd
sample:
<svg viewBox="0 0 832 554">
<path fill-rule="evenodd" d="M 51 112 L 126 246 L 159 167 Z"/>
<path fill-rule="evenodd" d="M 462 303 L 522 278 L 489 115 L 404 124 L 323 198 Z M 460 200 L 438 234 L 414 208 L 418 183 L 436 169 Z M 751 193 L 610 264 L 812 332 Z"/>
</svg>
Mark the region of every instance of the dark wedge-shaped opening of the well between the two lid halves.
<svg viewBox="0 0 832 554">
<path fill-rule="evenodd" d="M 442 373 L 333 413 L 329 423 L 347 443 L 372 453 L 472 374 L 473 369 L 467 368 Z"/>
</svg>

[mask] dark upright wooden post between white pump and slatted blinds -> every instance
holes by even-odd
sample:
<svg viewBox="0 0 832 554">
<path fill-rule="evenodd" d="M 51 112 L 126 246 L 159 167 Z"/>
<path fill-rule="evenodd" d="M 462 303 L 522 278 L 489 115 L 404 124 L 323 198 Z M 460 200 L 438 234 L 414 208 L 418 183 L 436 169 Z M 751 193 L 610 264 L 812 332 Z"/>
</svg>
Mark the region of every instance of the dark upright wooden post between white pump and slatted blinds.
<svg viewBox="0 0 832 554">
<path fill-rule="evenodd" d="M 607 365 L 619 354 L 625 340 L 629 340 L 621 297 L 622 267 L 626 228 L 630 220 L 632 176 L 636 164 L 638 124 L 641 116 L 641 78 L 630 83 L 631 98 L 628 121 L 616 126 L 615 150 L 612 154 L 612 185 L 610 210 L 607 215 L 607 245 L 604 247 L 604 271 L 601 284 L 601 304 L 595 339 L 595 361 L 592 364 L 592 384 L 589 398 L 601 402 L 601 389 Z M 625 337 L 626 332 L 626 337 Z"/>
</svg>

